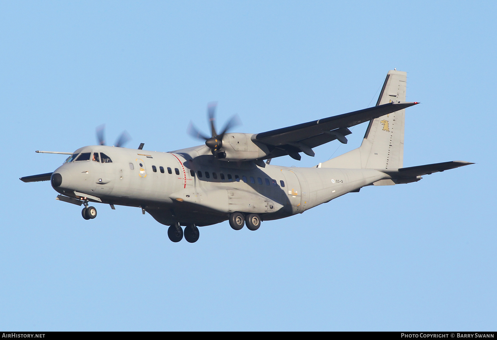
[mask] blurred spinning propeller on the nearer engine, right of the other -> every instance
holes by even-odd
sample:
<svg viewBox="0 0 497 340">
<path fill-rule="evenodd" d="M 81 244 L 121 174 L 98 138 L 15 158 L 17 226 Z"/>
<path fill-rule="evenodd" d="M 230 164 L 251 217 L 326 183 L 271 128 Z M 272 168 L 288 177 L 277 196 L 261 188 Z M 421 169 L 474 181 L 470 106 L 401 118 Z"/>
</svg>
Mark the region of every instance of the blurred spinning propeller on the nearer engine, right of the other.
<svg viewBox="0 0 497 340">
<path fill-rule="evenodd" d="M 240 117 L 238 114 L 235 114 L 233 117 L 230 118 L 230 120 L 226 123 L 224 126 L 222 132 L 218 134 L 216 132 L 216 126 L 215 126 L 215 121 L 216 121 L 216 107 L 217 107 L 217 102 L 213 101 L 207 104 L 207 118 L 209 120 L 209 124 L 211 126 L 211 134 L 212 137 L 207 137 L 193 125 L 193 123 L 190 121 L 190 124 L 188 124 L 188 129 L 187 133 L 192 136 L 193 138 L 198 138 L 198 139 L 203 139 L 205 140 L 205 145 L 207 145 L 211 151 L 212 154 L 216 158 L 225 158 L 226 153 L 224 151 L 220 151 L 221 148 L 223 147 L 223 137 L 230 130 L 231 128 L 241 125 L 242 121 L 240 120 Z"/>
</svg>

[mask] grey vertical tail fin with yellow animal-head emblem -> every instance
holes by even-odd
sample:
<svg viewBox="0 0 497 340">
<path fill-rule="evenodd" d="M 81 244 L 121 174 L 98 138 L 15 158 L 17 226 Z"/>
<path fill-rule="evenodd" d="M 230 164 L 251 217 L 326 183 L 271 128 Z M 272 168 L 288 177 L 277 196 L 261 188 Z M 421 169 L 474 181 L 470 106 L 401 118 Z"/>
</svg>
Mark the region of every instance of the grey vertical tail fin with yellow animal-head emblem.
<svg viewBox="0 0 497 340">
<path fill-rule="evenodd" d="M 406 101 L 407 73 L 391 70 L 376 105 Z M 405 110 L 372 119 L 359 148 L 324 162 L 322 168 L 399 169 L 404 160 Z"/>
</svg>

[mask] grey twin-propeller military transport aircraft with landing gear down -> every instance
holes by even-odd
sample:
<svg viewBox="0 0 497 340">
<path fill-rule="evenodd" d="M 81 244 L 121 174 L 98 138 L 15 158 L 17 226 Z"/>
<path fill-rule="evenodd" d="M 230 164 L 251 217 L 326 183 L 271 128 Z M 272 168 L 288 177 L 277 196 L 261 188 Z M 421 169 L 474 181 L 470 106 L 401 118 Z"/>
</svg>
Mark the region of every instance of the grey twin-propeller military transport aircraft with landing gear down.
<svg viewBox="0 0 497 340">
<path fill-rule="evenodd" d="M 466 166 L 469 162 L 403 168 L 406 72 L 389 71 L 376 106 L 256 134 L 231 133 L 232 118 L 221 133 L 214 126 L 215 106 L 208 107 L 212 137 L 190 125 L 190 134 L 205 145 L 171 152 L 154 152 L 100 145 L 72 153 L 53 172 L 21 177 L 24 182 L 50 180 L 57 199 L 84 205 L 86 220 L 96 217 L 90 202 L 140 207 L 169 226 L 172 242 L 184 237 L 193 243 L 197 227 L 229 220 L 240 230 L 257 230 L 261 221 L 292 216 L 327 203 L 366 185 L 411 183 L 422 175 Z M 300 153 L 314 156 L 313 148 L 338 140 L 347 143 L 351 126 L 369 121 L 359 148 L 319 163 L 313 168 L 270 165 L 273 158 Z M 42 151 L 37 151 L 42 152 Z M 48 152 L 50 153 L 50 152 Z M 267 160 L 266 162 L 264 162 Z M 185 226 L 184 232 L 181 226 Z"/>
</svg>

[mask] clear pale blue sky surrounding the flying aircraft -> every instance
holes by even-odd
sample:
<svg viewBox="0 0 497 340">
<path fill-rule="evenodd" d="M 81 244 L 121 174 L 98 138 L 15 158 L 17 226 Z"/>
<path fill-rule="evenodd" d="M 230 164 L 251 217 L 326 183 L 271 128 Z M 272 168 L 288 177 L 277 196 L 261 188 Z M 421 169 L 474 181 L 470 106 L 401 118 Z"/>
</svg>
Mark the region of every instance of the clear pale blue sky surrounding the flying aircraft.
<svg viewBox="0 0 497 340">
<path fill-rule="evenodd" d="M 495 1 L 1 1 L 0 329 L 495 330 Z M 138 208 L 23 183 L 107 125 L 145 149 L 257 133 L 375 104 L 408 72 L 404 166 L 477 164 L 366 187 L 256 232 L 171 243 Z M 273 164 L 314 166 L 356 148 Z"/>
</svg>

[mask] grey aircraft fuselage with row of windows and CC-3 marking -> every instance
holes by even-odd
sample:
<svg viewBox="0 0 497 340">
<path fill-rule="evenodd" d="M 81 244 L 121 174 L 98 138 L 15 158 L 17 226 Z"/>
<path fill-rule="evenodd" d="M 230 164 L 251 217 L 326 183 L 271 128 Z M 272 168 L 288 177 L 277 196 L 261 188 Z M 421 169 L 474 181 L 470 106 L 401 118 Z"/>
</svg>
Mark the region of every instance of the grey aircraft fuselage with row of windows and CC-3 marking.
<svg viewBox="0 0 497 340">
<path fill-rule="evenodd" d="M 86 146 L 73 154 L 82 153 L 103 153 L 112 162 L 74 157 L 54 171 L 62 177 L 59 184 L 52 175 L 56 191 L 142 207 L 165 225 L 206 226 L 226 221 L 236 211 L 258 214 L 261 220 L 280 219 L 391 178 L 373 169 L 262 168 L 253 162 L 221 161 L 206 146 L 175 152 Z"/>
</svg>

